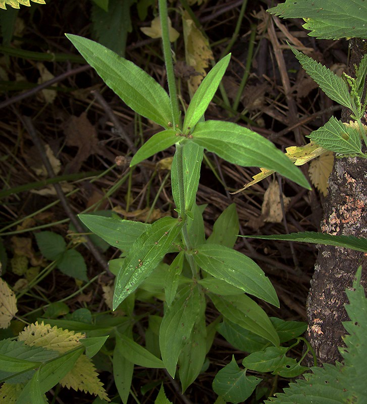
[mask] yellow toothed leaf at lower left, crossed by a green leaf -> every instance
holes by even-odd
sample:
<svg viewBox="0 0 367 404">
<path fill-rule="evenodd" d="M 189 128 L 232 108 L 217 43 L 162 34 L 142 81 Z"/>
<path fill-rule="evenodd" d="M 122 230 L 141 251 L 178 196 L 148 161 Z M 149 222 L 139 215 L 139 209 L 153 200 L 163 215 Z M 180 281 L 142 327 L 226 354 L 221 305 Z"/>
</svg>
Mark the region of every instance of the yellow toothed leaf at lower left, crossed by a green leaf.
<svg viewBox="0 0 367 404">
<path fill-rule="evenodd" d="M 19 334 L 18 340 L 24 341 L 26 345 L 42 346 L 63 354 L 70 349 L 81 346 L 80 339 L 85 338 L 83 333 L 63 330 L 58 327 L 51 327 L 49 324 L 29 325 Z M 98 374 L 89 358 L 81 355 L 73 369 L 60 381 L 62 386 L 82 390 L 90 394 L 98 395 L 101 399 L 110 401 Z"/>
</svg>

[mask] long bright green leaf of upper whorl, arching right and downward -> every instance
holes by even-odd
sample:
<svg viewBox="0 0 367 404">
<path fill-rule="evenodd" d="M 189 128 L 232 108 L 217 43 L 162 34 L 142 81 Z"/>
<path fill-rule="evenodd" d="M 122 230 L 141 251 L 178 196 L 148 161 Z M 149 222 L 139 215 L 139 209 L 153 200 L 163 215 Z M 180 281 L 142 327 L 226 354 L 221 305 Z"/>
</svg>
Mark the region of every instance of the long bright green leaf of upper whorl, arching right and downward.
<svg viewBox="0 0 367 404">
<path fill-rule="evenodd" d="M 295 183 L 310 189 L 302 172 L 274 144 L 258 133 L 233 122 L 198 123 L 193 141 L 230 163 L 243 167 L 275 170 Z"/>
</svg>

